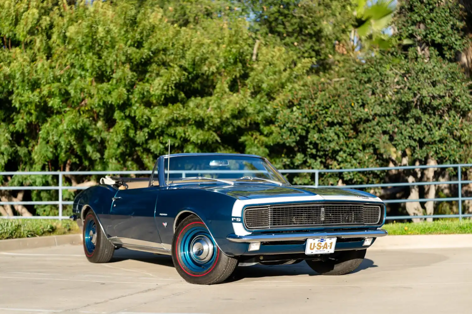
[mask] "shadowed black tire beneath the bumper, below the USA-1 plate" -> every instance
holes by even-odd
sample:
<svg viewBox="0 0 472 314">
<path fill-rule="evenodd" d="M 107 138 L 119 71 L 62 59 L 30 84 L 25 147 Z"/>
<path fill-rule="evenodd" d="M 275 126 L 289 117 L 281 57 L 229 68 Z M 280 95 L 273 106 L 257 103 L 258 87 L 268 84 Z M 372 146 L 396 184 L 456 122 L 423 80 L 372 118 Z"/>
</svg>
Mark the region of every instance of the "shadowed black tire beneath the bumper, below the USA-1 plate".
<svg viewBox="0 0 472 314">
<path fill-rule="evenodd" d="M 340 251 L 325 261 L 306 260 L 306 264 L 322 275 L 344 275 L 354 271 L 365 257 L 366 250 Z"/>
</svg>

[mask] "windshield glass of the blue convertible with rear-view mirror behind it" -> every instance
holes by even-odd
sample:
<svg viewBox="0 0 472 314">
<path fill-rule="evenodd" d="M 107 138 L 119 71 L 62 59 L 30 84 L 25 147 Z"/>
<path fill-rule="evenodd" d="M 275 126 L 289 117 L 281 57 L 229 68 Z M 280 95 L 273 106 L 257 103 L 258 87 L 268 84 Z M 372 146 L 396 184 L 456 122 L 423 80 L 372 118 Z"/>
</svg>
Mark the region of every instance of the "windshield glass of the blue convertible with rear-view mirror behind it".
<svg viewBox="0 0 472 314">
<path fill-rule="evenodd" d="M 166 181 L 168 160 L 164 160 Z M 237 155 L 170 156 L 169 185 L 193 182 L 288 184 L 285 177 L 263 158 Z"/>
</svg>

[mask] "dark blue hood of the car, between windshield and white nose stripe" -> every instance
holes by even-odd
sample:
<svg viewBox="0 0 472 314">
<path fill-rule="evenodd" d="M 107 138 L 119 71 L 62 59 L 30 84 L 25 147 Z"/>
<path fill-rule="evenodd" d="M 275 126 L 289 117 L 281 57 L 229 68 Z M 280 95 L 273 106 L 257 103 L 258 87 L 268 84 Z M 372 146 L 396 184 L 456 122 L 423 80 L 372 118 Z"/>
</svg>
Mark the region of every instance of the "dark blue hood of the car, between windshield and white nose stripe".
<svg viewBox="0 0 472 314">
<path fill-rule="evenodd" d="M 200 185 L 200 188 L 205 188 Z M 268 198 L 268 197 L 280 197 L 280 196 L 354 196 L 366 198 L 377 198 L 371 193 L 353 190 L 353 189 L 342 189 L 342 188 L 314 188 L 305 186 L 278 186 L 271 184 L 236 184 L 236 185 L 225 185 L 225 186 L 214 186 L 206 187 L 205 189 L 211 189 L 219 193 L 225 193 L 236 198 Z M 239 197 L 238 197 L 239 196 Z"/>
</svg>

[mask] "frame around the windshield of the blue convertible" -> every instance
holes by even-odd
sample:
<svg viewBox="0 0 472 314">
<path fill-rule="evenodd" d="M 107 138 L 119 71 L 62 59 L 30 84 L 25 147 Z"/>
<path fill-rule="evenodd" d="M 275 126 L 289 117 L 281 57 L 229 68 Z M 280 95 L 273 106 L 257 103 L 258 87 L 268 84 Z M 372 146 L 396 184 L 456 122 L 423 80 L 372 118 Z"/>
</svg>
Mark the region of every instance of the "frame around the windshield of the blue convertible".
<svg viewBox="0 0 472 314">
<path fill-rule="evenodd" d="M 190 155 L 190 154 L 189 154 Z M 231 156 L 245 156 L 247 158 L 254 158 L 254 159 L 260 159 L 262 162 L 265 163 L 265 167 L 268 168 L 269 170 L 269 173 L 270 172 L 273 172 L 273 174 L 275 174 L 277 177 L 272 177 L 272 174 L 270 174 L 270 177 L 271 179 L 275 179 L 276 181 L 280 181 L 282 185 L 291 185 L 288 181 L 287 181 L 287 178 L 284 177 L 271 163 L 270 161 L 267 159 L 267 158 L 264 158 L 264 157 L 261 157 L 261 156 L 256 156 L 256 155 L 246 155 L 246 154 L 225 154 L 225 153 L 221 153 L 221 154 L 218 154 L 218 153 L 202 153 L 202 154 L 199 154 L 199 153 L 195 153 L 194 154 L 195 156 L 199 156 L 199 155 L 208 155 L 208 156 L 215 156 L 215 158 L 218 158 L 219 156 L 221 157 L 227 157 L 229 159 L 229 157 Z M 170 158 L 175 158 L 175 157 L 182 157 L 183 154 L 174 154 L 174 155 L 170 155 Z M 188 182 L 176 182 L 176 183 L 170 183 L 169 185 L 167 185 L 167 162 L 166 160 L 169 158 L 169 155 L 162 155 L 159 157 L 158 161 L 157 161 L 157 169 L 162 169 L 161 171 L 158 171 L 158 177 L 159 177 L 159 186 L 166 186 L 166 187 L 171 187 L 171 186 L 176 186 L 176 185 L 195 185 L 195 184 L 224 184 L 224 183 L 221 183 L 221 182 L 218 182 L 218 181 L 213 181 L 213 180 L 195 180 L 195 181 L 188 181 Z M 172 170 L 170 170 L 172 171 Z M 270 183 L 268 181 L 257 181 L 257 180 L 247 180 L 247 181 L 233 181 L 235 183 L 235 185 L 238 185 L 238 184 L 268 184 L 268 185 L 275 185 L 274 183 Z"/>
</svg>

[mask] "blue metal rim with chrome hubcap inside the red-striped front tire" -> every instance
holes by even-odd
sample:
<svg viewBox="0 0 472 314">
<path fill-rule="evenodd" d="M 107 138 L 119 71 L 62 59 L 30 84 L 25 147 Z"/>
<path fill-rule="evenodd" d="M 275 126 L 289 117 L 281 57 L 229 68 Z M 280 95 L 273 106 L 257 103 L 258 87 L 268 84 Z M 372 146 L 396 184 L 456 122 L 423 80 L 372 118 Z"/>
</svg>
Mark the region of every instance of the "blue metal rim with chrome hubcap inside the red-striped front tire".
<svg viewBox="0 0 472 314">
<path fill-rule="evenodd" d="M 217 257 L 215 242 L 211 234 L 203 226 L 188 229 L 180 242 L 180 259 L 194 273 L 207 272 Z"/>
</svg>

